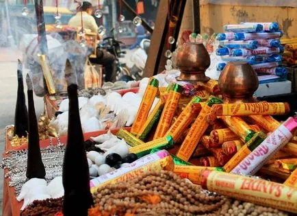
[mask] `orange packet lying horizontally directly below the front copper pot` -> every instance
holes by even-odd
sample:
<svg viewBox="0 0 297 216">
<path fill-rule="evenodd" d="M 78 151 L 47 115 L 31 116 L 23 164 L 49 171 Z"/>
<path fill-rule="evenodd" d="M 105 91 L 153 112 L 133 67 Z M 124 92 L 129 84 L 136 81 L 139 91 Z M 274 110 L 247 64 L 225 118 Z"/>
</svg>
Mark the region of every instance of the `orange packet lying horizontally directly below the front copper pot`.
<svg viewBox="0 0 297 216">
<path fill-rule="evenodd" d="M 216 104 L 211 107 L 211 114 L 216 116 L 284 115 L 287 113 L 289 113 L 287 103 Z"/>
</svg>

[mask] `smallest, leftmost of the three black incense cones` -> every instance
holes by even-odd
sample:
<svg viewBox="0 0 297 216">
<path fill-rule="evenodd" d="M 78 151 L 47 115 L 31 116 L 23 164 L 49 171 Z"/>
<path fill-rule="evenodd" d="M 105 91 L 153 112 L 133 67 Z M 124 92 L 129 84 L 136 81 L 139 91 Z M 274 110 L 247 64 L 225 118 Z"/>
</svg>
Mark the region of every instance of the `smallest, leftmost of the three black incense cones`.
<svg viewBox="0 0 297 216">
<path fill-rule="evenodd" d="M 14 136 L 27 136 L 28 131 L 28 110 L 23 84 L 23 64 L 18 60 L 18 93 L 16 96 L 16 112 L 14 115 Z"/>
</svg>

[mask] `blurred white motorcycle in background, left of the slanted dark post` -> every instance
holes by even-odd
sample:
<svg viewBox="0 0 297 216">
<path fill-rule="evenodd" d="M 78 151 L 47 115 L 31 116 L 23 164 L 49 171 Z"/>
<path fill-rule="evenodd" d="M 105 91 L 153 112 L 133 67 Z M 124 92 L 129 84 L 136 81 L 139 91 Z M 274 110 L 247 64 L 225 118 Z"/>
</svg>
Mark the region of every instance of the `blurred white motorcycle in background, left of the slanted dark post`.
<svg viewBox="0 0 297 216">
<path fill-rule="evenodd" d="M 141 80 L 144 67 L 146 64 L 148 49 L 151 45 L 151 40 L 143 39 L 140 43 L 140 47 L 131 56 L 131 62 L 133 62 L 133 67 L 131 68 L 131 74 L 134 80 Z"/>
</svg>

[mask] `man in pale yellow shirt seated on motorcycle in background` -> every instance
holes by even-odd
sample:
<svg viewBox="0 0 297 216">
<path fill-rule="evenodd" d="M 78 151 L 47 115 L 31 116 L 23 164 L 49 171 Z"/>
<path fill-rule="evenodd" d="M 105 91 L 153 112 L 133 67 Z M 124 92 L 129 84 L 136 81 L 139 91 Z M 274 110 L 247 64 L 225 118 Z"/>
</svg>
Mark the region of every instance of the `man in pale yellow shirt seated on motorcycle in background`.
<svg viewBox="0 0 297 216">
<path fill-rule="evenodd" d="M 97 38 L 100 40 L 98 25 L 91 15 L 93 12 L 92 4 L 88 1 L 83 1 L 81 10 L 83 13 L 83 29 L 96 33 Z M 77 28 L 81 27 L 81 11 L 77 12 L 77 14 L 70 19 L 68 25 Z M 90 62 L 103 65 L 105 68 L 105 82 L 116 82 L 116 57 L 104 49 L 97 49 L 96 53 L 97 57 L 90 58 Z"/>
</svg>

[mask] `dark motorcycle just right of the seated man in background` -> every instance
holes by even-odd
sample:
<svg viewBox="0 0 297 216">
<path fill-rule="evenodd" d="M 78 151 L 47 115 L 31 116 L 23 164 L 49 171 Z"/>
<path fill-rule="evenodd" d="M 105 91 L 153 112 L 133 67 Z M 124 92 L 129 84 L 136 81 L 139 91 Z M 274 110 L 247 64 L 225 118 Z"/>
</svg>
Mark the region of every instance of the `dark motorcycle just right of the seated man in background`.
<svg viewBox="0 0 297 216">
<path fill-rule="evenodd" d="M 131 71 L 127 67 L 125 63 L 120 62 L 119 58 L 124 57 L 127 53 L 126 51 L 122 51 L 120 45 L 123 45 L 119 40 L 114 38 L 114 27 L 110 30 L 110 36 L 103 38 L 103 43 L 101 45 L 101 49 L 105 49 L 112 53 L 116 57 L 116 80 L 120 80 L 122 76 L 130 76 Z"/>
</svg>

